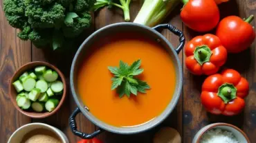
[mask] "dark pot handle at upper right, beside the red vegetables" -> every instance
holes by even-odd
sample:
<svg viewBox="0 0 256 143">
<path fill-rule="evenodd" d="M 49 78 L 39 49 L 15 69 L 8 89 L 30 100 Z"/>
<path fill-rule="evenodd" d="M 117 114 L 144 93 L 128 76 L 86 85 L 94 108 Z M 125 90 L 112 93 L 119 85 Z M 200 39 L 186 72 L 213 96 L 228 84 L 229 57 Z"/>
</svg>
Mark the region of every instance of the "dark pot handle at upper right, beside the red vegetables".
<svg viewBox="0 0 256 143">
<path fill-rule="evenodd" d="M 181 50 L 183 49 L 183 47 L 185 45 L 185 36 L 184 36 L 183 32 L 181 32 L 181 30 L 178 30 L 177 28 L 175 28 L 173 25 L 170 25 L 170 24 L 159 24 L 159 25 L 156 25 L 153 29 L 156 30 L 156 31 L 163 30 L 163 29 L 168 29 L 168 30 L 170 30 L 170 32 L 179 36 L 180 44 L 176 48 L 175 51 L 176 51 L 177 54 L 179 54 L 179 52 L 181 52 Z"/>
</svg>

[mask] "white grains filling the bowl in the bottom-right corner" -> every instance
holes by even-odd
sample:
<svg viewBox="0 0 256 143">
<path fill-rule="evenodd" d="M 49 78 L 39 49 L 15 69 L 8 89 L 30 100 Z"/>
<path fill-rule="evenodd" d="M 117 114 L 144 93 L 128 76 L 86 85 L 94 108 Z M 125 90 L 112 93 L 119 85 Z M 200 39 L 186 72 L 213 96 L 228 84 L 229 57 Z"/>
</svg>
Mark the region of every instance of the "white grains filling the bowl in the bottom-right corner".
<svg viewBox="0 0 256 143">
<path fill-rule="evenodd" d="M 239 143 L 239 141 L 232 132 L 217 128 L 203 133 L 200 143 Z"/>
</svg>

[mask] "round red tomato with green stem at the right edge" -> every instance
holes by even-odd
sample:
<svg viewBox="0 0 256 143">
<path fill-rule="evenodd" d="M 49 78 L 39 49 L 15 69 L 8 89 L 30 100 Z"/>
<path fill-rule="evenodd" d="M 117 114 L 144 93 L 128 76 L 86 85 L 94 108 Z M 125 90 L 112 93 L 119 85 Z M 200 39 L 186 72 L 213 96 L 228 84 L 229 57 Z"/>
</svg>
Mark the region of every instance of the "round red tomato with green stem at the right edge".
<svg viewBox="0 0 256 143">
<path fill-rule="evenodd" d="M 250 22 L 253 15 L 243 21 L 240 17 L 230 16 L 221 20 L 216 35 L 230 53 L 239 53 L 246 50 L 255 39 L 255 32 Z"/>
</svg>

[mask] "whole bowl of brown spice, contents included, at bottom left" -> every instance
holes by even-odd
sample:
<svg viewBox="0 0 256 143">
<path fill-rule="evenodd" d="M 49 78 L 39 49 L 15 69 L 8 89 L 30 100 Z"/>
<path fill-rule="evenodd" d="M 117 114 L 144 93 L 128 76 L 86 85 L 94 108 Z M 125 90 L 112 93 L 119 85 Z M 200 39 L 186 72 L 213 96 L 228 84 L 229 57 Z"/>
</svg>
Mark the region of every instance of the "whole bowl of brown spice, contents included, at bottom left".
<svg viewBox="0 0 256 143">
<path fill-rule="evenodd" d="M 8 143 L 69 143 L 66 135 L 48 124 L 39 122 L 26 124 L 10 136 Z"/>
</svg>

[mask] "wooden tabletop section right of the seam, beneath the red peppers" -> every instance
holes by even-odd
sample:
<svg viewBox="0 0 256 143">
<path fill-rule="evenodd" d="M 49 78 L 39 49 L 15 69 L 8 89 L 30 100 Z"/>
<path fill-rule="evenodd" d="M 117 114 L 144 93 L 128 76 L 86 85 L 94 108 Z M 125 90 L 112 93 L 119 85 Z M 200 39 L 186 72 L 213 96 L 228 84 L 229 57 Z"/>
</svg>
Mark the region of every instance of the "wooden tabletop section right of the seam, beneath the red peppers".
<svg viewBox="0 0 256 143">
<path fill-rule="evenodd" d="M 248 17 L 255 13 L 255 1 L 237 0 L 223 3 L 219 6 L 221 17 L 228 15 L 239 15 Z M 255 20 L 251 23 L 255 26 Z M 192 32 L 185 28 L 186 38 L 192 39 L 198 33 Z M 223 68 L 232 68 L 240 72 L 250 83 L 250 94 L 246 98 L 246 108 L 240 115 L 226 117 L 223 115 L 212 115 L 207 113 L 200 102 L 201 85 L 206 76 L 193 76 L 184 67 L 184 85 L 183 85 L 183 142 L 191 142 L 194 135 L 203 126 L 213 122 L 227 122 L 234 124 L 243 129 L 251 142 L 256 142 L 256 75 L 255 75 L 255 42 L 251 45 L 250 50 L 240 54 L 229 54 L 228 61 Z M 185 56 L 184 56 L 185 57 Z"/>
</svg>

